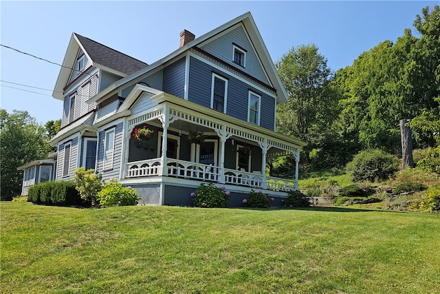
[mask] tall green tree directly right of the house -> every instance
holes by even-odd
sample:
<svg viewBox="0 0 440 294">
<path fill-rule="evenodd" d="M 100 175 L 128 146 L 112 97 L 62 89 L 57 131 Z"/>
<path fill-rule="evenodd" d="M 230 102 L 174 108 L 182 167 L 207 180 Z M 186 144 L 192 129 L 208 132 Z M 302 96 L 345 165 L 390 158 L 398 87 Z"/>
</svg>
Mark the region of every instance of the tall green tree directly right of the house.
<svg viewBox="0 0 440 294">
<path fill-rule="evenodd" d="M 305 140 L 306 160 L 322 139 L 322 126 L 329 125 L 336 109 L 334 95 L 327 87 L 331 71 L 316 45 L 300 45 L 283 54 L 276 63 L 289 101 L 278 106 L 277 131 Z M 316 140 L 318 138 L 318 140 Z"/>
</svg>

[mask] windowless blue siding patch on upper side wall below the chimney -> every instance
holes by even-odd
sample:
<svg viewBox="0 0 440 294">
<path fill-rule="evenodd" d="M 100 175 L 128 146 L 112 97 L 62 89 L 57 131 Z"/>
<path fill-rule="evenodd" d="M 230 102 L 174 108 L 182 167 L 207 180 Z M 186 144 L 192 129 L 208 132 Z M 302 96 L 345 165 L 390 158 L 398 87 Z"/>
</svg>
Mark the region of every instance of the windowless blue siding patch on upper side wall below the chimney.
<svg viewBox="0 0 440 294">
<path fill-rule="evenodd" d="M 185 58 L 164 68 L 163 91 L 174 96 L 185 96 Z"/>
</svg>

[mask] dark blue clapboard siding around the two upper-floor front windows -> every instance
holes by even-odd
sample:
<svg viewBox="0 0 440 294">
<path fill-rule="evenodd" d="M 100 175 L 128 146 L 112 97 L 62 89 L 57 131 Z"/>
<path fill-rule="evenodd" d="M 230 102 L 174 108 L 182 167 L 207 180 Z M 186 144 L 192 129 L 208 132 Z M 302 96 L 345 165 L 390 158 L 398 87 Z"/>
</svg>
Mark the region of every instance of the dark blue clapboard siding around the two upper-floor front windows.
<svg viewBox="0 0 440 294">
<path fill-rule="evenodd" d="M 225 72 L 219 72 L 219 70 L 214 69 L 214 67 L 193 57 L 190 58 L 188 101 L 210 107 L 212 72 L 217 72 L 225 78 L 228 78 L 226 114 L 248 121 L 248 97 L 249 90 L 251 90 L 252 92 L 261 94 L 261 127 L 274 130 L 274 98 L 263 94 L 255 87 L 251 87 L 247 83 L 243 83 L 229 74 L 225 74 Z"/>
</svg>

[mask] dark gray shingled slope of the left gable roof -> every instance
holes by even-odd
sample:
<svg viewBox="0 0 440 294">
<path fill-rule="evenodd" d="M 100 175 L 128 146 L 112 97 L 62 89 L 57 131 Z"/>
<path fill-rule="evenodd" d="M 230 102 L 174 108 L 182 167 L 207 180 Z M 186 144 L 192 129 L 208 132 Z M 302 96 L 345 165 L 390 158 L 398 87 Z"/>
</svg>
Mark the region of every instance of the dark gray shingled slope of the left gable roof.
<svg viewBox="0 0 440 294">
<path fill-rule="evenodd" d="M 133 59 L 133 57 L 113 50 L 106 45 L 102 45 L 85 36 L 74 34 L 94 63 L 104 65 L 118 72 L 123 72 L 124 74 L 133 74 L 133 72 L 137 72 L 148 66 L 148 64 L 144 62 Z"/>
</svg>

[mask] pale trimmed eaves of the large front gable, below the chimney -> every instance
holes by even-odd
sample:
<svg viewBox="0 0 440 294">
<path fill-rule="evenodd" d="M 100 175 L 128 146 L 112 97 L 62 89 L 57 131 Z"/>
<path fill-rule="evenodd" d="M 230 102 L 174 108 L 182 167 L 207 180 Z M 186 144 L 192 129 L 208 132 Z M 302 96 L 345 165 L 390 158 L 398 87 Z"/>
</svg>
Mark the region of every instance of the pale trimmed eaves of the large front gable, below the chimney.
<svg viewBox="0 0 440 294">
<path fill-rule="evenodd" d="M 232 26 L 236 25 L 237 23 L 243 23 L 245 30 L 248 32 L 250 39 L 252 41 L 252 44 L 254 45 L 254 48 L 256 50 L 256 53 L 258 54 L 261 63 L 263 64 L 263 67 L 265 68 L 267 72 L 267 76 L 270 79 L 270 83 L 275 88 L 277 93 L 276 102 L 277 103 L 284 103 L 289 99 L 289 96 L 287 95 L 287 92 L 285 90 L 285 87 L 283 86 L 283 83 L 281 82 L 281 78 L 278 76 L 278 72 L 276 71 L 274 62 L 272 61 L 269 52 L 267 51 L 267 48 L 265 46 L 265 43 L 263 42 L 263 38 L 261 37 L 261 34 L 256 28 L 256 23 L 254 21 L 254 18 L 252 17 L 252 14 L 250 12 L 246 12 L 245 14 L 242 14 L 239 17 L 236 17 L 235 19 L 232 19 L 231 21 L 228 21 L 227 23 L 219 26 L 218 28 L 215 28 L 214 30 L 211 30 L 210 32 L 203 34 L 202 36 L 199 36 L 198 38 L 194 39 L 193 41 L 190 41 L 186 45 L 182 46 L 181 48 L 175 50 L 174 52 L 168 54 L 163 59 L 159 59 L 159 61 L 156 61 L 155 63 L 152 63 L 151 65 L 148 65 L 147 67 L 144 67 L 142 70 L 135 72 L 134 74 L 131 74 L 130 76 L 126 76 L 125 78 L 122 78 L 119 81 L 116 81 L 112 85 L 109 85 L 107 89 L 104 91 L 98 93 L 93 99 L 89 101 L 89 103 L 94 103 L 99 101 L 102 97 L 107 95 L 109 92 L 115 90 L 116 88 L 124 85 L 125 83 L 129 83 L 131 80 L 142 76 L 142 74 L 146 74 L 147 72 L 150 72 L 151 70 L 154 70 L 155 68 L 164 65 L 164 63 L 175 59 L 177 56 L 184 54 L 186 51 L 190 50 L 193 47 L 197 47 L 197 45 L 200 45 L 203 42 L 208 41 L 212 37 L 216 36 L 217 34 L 220 34 L 224 30 L 228 30 L 228 28 L 231 28 Z"/>
</svg>

